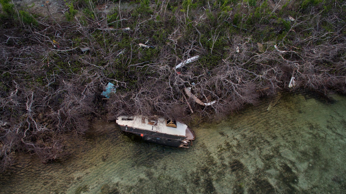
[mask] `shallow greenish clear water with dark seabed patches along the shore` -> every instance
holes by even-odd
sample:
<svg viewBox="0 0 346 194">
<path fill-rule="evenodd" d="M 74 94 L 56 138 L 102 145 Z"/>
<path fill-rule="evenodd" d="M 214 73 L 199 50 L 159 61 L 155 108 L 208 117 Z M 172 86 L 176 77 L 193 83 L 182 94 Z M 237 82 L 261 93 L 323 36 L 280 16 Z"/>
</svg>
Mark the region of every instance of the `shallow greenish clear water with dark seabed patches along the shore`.
<svg viewBox="0 0 346 194">
<path fill-rule="evenodd" d="M 67 142 L 64 161 L 18 158 L 1 193 L 346 193 L 346 97 L 282 94 L 192 127 L 190 149 L 146 143 L 115 123 Z"/>
</svg>

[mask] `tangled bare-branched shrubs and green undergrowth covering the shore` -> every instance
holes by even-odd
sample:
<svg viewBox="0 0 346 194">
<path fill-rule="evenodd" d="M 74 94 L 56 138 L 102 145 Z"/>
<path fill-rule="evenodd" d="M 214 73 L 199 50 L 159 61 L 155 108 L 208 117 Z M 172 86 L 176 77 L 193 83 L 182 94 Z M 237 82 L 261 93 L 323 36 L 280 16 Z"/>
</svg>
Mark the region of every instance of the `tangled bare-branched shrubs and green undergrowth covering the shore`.
<svg viewBox="0 0 346 194">
<path fill-rule="evenodd" d="M 58 1 L 64 14 L 11 2 L 0 0 L 2 170 L 14 151 L 63 157 L 61 134 L 84 133 L 95 116 L 221 118 L 292 76 L 294 88 L 346 92 L 344 2 Z M 108 82 L 117 92 L 101 100 Z M 194 103 L 185 87 L 216 103 Z"/>
</svg>

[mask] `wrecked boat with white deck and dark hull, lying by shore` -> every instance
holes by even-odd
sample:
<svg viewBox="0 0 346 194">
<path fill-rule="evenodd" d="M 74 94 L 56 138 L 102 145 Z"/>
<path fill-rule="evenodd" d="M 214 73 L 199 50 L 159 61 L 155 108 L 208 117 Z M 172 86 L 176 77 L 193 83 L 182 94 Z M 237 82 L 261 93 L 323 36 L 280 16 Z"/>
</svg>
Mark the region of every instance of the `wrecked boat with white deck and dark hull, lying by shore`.
<svg viewBox="0 0 346 194">
<path fill-rule="evenodd" d="M 195 139 L 187 125 L 172 119 L 120 116 L 116 121 L 122 131 L 139 135 L 148 142 L 189 148 Z"/>
</svg>

